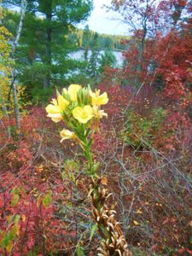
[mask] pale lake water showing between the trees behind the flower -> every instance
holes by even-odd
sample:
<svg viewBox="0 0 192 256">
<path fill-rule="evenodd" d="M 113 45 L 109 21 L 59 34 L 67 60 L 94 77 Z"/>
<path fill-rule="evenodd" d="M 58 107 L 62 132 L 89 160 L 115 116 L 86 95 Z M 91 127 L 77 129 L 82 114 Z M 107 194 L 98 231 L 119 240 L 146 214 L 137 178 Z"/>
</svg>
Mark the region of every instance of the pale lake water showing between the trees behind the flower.
<svg viewBox="0 0 192 256">
<path fill-rule="evenodd" d="M 99 53 L 100 53 L 100 57 L 102 57 L 102 55 L 104 54 L 104 50 L 101 50 Z M 91 50 L 88 51 L 88 58 L 90 57 L 90 55 L 91 55 Z M 113 55 L 116 58 L 117 66 L 118 67 L 122 66 L 124 61 L 123 53 L 121 51 L 113 51 Z M 79 60 L 79 61 L 84 60 L 84 49 L 79 49 L 78 51 L 74 51 L 69 55 L 69 57 L 74 60 Z"/>
</svg>

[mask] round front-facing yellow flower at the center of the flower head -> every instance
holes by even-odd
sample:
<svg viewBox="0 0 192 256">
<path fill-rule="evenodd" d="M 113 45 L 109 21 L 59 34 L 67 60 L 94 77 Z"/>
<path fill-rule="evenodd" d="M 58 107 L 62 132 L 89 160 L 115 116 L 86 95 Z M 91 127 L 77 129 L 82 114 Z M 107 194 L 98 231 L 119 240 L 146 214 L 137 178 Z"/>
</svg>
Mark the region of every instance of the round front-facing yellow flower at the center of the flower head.
<svg viewBox="0 0 192 256">
<path fill-rule="evenodd" d="M 93 109 L 90 105 L 84 108 L 76 107 L 73 109 L 73 118 L 78 119 L 80 123 L 86 124 L 93 117 Z"/>
</svg>

